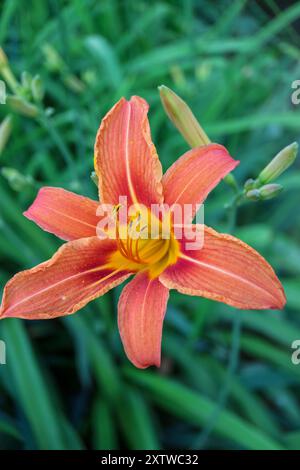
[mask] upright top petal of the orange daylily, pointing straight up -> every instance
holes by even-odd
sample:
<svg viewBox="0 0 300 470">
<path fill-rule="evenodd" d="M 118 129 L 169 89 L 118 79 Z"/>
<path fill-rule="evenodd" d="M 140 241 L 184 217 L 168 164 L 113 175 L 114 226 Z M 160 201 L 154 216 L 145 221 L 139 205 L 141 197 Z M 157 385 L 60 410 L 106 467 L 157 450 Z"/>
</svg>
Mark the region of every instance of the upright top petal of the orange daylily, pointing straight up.
<svg viewBox="0 0 300 470">
<path fill-rule="evenodd" d="M 100 200 L 118 204 L 119 195 L 149 206 L 162 202 L 162 170 L 151 140 L 148 104 L 122 98 L 102 120 L 95 142 Z"/>
</svg>

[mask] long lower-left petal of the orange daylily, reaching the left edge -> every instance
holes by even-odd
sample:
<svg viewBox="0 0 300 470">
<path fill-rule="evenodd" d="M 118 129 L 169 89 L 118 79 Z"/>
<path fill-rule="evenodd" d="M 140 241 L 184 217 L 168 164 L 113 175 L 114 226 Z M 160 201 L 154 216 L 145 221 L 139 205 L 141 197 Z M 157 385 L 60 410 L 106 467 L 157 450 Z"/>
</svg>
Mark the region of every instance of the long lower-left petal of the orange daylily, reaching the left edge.
<svg viewBox="0 0 300 470">
<path fill-rule="evenodd" d="M 0 318 L 49 319 L 76 312 L 130 275 L 107 268 L 114 250 L 114 242 L 97 237 L 65 243 L 49 261 L 7 283 Z"/>
</svg>

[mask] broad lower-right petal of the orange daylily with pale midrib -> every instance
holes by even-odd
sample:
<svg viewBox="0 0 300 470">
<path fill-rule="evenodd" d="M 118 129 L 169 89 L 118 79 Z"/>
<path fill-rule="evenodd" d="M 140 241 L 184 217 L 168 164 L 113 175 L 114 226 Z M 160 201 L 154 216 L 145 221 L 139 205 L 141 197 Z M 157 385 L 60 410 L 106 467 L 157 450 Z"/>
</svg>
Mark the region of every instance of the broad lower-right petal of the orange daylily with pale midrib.
<svg viewBox="0 0 300 470">
<path fill-rule="evenodd" d="M 194 229 L 189 226 L 188 238 Z M 284 307 L 284 291 L 272 267 L 237 238 L 205 227 L 203 248 L 187 250 L 184 239 L 181 252 L 159 278 L 169 289 L 243 309 Z"/>
</svg>

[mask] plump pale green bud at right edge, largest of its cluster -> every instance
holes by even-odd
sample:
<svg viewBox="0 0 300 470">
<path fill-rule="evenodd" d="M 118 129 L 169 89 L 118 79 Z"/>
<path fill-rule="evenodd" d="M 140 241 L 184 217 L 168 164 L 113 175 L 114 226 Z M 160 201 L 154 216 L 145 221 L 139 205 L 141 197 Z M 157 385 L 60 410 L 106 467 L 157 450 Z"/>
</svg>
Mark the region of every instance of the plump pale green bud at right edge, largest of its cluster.
<svg viewBox="0 0 300 470">
<path fill-rule="evenodd" d="M 280 176 L 294 162 L 298 152 L 297 142 L 282 149 L 258 176 L 260 185 L 270 183 Z"/>
</svg>

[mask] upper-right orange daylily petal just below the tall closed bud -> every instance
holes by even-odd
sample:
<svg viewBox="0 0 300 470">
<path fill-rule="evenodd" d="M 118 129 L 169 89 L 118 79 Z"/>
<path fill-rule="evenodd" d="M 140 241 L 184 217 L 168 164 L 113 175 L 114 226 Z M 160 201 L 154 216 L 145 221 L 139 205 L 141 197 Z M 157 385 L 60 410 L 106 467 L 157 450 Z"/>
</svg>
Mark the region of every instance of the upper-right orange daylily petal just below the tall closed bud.
<svg viewBox="0 0 300 470">
<path fill-rule="evenodd" d="M 170 206 L 192 204 L 194 216 L 195 205 L 202 204 L 210 191 L 238 164 L 219 144 L 190 150 L 164 174 L 164 202 Z M 191 221 L 185 220 L 185 223 Z"/>
</svg>

